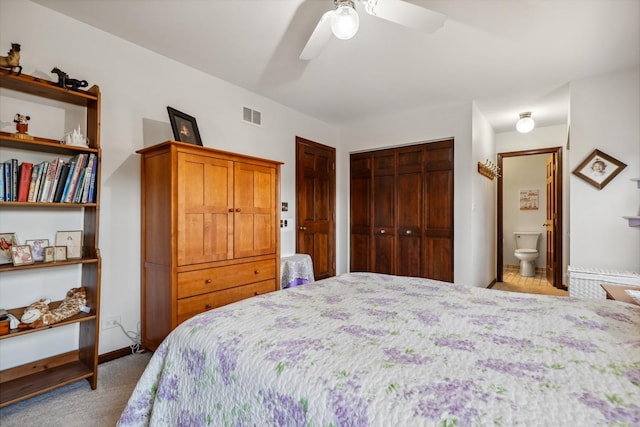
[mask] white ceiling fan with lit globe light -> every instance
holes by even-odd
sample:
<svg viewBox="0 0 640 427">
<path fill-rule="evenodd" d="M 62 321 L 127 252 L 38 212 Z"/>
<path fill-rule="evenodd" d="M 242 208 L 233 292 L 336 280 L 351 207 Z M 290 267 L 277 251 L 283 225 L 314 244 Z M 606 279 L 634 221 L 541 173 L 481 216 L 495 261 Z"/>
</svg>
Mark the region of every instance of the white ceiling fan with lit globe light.
<svg viewBox="0 0 640 427">
<path fill-rule="evenodd" d="M 336 8 L 322 15 L 300 59 L 309 61 L 320 55 L 332 33 L 342 40 L 353 37 L 360 25 L 356 3 L 362 4 L 369 15 L 424 33 L 433 33 L 447 19 L 442 13 L 403 0 L 333 0 L 333 3 Z"/>
</svg>

